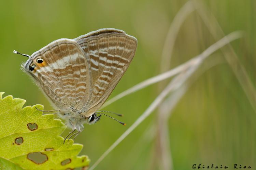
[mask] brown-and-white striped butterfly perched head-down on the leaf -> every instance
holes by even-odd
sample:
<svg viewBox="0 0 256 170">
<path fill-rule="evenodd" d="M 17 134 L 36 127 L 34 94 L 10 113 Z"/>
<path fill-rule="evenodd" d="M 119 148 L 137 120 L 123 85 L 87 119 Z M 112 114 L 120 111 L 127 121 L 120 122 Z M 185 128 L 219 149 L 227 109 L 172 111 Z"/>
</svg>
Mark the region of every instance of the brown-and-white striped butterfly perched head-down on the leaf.
<svg viewBox="0 0 256 170">
<path fill-rule="evenodd" d="M 51 101 L 53 111 L 66 120 L 72 129 L 69 135 L 77 131 L 73 134 L 76 137 L 83 131 L 83 124 L 100 119 L 103 113 L 98 109 L 124 75 L 136 49 L 135 37 L 108 28 L 55 40 L 31 56 L 14 53 L 29 57 L 22 69 Z"/>
</svg>

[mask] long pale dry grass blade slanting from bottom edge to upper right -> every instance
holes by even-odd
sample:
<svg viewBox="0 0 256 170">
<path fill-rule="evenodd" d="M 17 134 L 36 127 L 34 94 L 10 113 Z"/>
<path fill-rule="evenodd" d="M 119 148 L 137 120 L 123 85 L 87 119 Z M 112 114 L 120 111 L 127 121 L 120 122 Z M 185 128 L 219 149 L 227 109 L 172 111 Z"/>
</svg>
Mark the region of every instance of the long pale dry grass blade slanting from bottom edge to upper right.
<svg viewBox="0 0 256 170">
<path fill-rule="evenodd" d="M 177 75 L 165 89 L 157 96 L 157 98 L 151 103 L 151 105 L 146 109 L 146 111 L 110 146 L 108 150 L 106 150 L 100 158 L 91 166 L 89 170 L 93 170 L 106 155 L 108 155 L 126 136 L 128 136 L 143 120 L 145 120 L 155 109 L 159 106 L 159 104 L 165 99 L 165 97 L 173 90 L 181 87 L 183 83 L 190 77 L 192 73 L 198 68 L 198 66 L 203 62 L 205 58 L 211 55 L 214 51 L 219 48 L 225 46 L 235 39 L 238 39 L 242 36 L 241 32 L 236 31 L 230 33 L 229 35 L 223 37 L 221 40 L 217 41 L 215 44 L 207 48 L 203 53 L 198 55 L 197 57 L 190 60 L 187 67 L 184 67 L 183 72 Z"/>
</svg>

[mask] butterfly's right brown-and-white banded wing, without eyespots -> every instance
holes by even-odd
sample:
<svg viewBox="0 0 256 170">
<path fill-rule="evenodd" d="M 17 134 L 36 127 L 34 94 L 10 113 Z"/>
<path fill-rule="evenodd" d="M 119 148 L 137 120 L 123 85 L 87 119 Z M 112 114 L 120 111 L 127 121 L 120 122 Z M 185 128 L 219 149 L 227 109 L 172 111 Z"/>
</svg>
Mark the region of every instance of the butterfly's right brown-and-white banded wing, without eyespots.
<svg viewBox="0 0 256 170">
<path fill-rule="evenodd" d="M 88 117 L 108 99 L 136 52 L 137 39 L 122 30 L 100 29 L 74 40 L 85 52 L 92 88 L 82 113 Z"/>
</svg>

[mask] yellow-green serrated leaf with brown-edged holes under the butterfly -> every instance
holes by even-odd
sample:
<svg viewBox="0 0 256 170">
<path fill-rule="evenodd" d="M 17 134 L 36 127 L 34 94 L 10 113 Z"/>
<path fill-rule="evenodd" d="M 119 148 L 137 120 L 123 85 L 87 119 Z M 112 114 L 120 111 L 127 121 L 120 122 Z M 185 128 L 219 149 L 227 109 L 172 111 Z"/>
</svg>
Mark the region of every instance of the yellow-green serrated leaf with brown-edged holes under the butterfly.
<svg viewBox="0 0 256 170">
<path fill-rule="evenodd" d="M 63 144 L 59 136 L 66 126 L 53 114 L 42 115 L 25 100 L 0 92 L 0 169 L 68 169 L 89 165 L 87 156 L 77 156 L 83 145 L 73 140 Z"/>
</svg>

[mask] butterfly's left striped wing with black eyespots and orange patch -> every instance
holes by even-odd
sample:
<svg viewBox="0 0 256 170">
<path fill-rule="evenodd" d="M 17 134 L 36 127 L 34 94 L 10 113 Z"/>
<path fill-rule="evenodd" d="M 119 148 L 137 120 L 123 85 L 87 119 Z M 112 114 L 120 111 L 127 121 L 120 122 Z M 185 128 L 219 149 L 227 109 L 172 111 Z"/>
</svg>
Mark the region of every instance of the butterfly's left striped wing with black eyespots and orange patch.
<svg viewBox="0 0 256 170">
<path fill-rule="evenodd" d="M 43 60 L 38 63 L 38 58 Z M 29 67 L 35 66 L 30 71 Z M 81 110 L 89 99 L 89 66 L 84 51 L 72 39 L 58 39 L 31 55 L 24 70 L 35 78 L 59 109 Z"/>
</svg>

